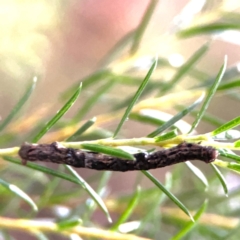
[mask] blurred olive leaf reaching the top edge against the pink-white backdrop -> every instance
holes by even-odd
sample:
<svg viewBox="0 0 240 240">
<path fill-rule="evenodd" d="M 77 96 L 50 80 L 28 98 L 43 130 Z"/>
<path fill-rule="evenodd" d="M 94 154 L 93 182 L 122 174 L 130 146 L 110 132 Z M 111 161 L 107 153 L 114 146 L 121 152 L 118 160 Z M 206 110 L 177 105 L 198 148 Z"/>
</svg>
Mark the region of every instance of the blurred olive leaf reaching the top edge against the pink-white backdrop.
<svg viewBox="0 0 240 240">
<path fill-rule="evenodd" d="M 143 34 L 148 26 L 148 23 L 153 15 L 154 9 L 156 8 L 158 2 L 158 0 L 151 0 L 151 2 L 149 3 L 148 8 L 141 20 L 141 23 L 135 31 L 132 47 L 130 49 L 131 54 L 134 54 L 138 50 Z"/>
</svg>

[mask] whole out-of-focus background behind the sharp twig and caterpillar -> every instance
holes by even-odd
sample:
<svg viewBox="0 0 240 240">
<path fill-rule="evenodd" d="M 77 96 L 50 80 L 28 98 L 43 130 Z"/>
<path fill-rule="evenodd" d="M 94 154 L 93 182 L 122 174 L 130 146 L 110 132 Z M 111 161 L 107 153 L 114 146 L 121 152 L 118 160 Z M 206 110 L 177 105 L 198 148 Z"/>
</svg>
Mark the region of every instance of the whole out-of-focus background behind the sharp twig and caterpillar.
<svg viewBox="0 0 240 240">
<path fill-rule="evenodd" d="M 80 82 L 78 100 L 40 142 L 64 141 L 93 117 L 97 117 L 96 122 L 92 119 L 94 125 L 74 140 L 111 137 L 155 58 L 157 68 L 118 138 L 145 137 L 190 106 L 209 90 L 225 55 L 228 63 L 222 83 L 193 133 L 210 132 L 240 115 L 238 1 L 3 0 L 0 18 L 2 122 L 27 88 L 31 89 L 33 77 L 38 77 L 24 108 L 1 129 L 1 148 L 31 142 Z M 198 110 L 175 123 L 179 133 L 188 133 Z M 68 171 L 53 164 L 44 166 Z M 190 224 L 188 216 L 138 172 L 77 170 L 103 199 L 111 224 L 81 186 L 53 173 L 1 160 L 1 179 L 27 193 L 39 212 L 33 213 L 11 191 L 0 187 L 0 213 L 51 222 L 80 218 L 84 227 L 132 232 L 150 239 L 238 239 L 239 176 L 223 171 L 227 198 L 212 168 L 202 163 L 196 166 L 208 180 L 207 190 L 185 164 L 151 171 L 190 211 L 204 212 L 183 237 L 177 233 Z M 111 233 L 109 239 L 115 239 Z M 31 231 L 30 225 L 26 231 L 3 230 L 0 239 L 81 239 L 73 234 Z M 98 233 L 95 237 L 106 236 Z M 83 239 L 94 238 L 90 234 Z"/>
</svg>

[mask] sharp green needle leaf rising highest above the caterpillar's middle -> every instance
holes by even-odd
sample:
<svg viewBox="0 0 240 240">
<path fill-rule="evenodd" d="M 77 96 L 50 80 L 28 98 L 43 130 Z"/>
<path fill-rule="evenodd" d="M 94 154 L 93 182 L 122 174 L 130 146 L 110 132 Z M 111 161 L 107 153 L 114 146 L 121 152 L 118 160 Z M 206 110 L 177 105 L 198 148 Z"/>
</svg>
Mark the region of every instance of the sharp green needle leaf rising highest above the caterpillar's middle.
<svg viewBox="0 0 240 240">
<path fill-rule="evenodd" d="M 115 131 L 115 133 L 114 133 L 114 135 L 113 135 L 113 138 L 115 138 L 115 137 L 117 136 L 117 134 L 119 133 L 120 129 L 122 128 L 123 123 L 124 123 L 124 122 L 126 121 L 126 119 L 128 118 L 128 116 L 129 116 L 129 114 L 130 114 L 130 112 L 131 112 L 134 104 L 137 102 L 138 98 L 141 96 L 143 90 L 145 89 L 147 83 L 149 82 L 150 77 L 151 77 L 153 71 L 155 70 L 156 66 L 157 66 L 157 60 L 155 60 L 155 61 L 153 62 L 152 66 L 151 66 L 151 68 L 149 69 L 149 71 L 148 71 L 146 77 L 144 78 L 142 84 L 140 85 L 140 87 L 138 88 L 136 94 L 134 95 L 134 97 L 133 97 L 133 99 L 132 99 L 132 102 L 128 105 L 128 108 L 126 109 L 126 111 L 125 111 L 125 113 L 124 113 L 124 115 L 123 115 L 120 123 L 119 123 L 118 126 L 117 126 L 117 129 L 116 129 L 116 131 Z"/>
</svg>

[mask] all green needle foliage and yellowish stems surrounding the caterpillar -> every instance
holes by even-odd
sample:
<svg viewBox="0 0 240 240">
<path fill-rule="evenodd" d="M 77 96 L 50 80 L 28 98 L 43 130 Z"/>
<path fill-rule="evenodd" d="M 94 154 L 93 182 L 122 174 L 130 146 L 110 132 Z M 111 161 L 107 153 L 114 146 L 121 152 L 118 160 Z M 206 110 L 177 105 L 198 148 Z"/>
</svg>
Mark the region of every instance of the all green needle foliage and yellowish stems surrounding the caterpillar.
<svg viewBox="0 0 240 240">
<path fill-rule="evenodd" d="M 234 75 L 236 67 L 227 68 L 225 57 L 218 73 L 208 76 L 199 71 L 198 61 L 204 60 L 205 53 L 211 48 L 210 42 L 200 46 L 179 68 L 171 66 L 164 56 L 153 56 L 151 66 L 142 78 L 136 77 L 139 69 L 128 71 L 134 62 L 129 64 L 129 61 L 116 57 L 117 52 L 125 54 L 128 59 L 138 57 L 157 2 L 151 1 L 138 28 L 116 44 L 103 59 L 101 69 L 80 79 L 61 94 L 58 101 L 63 107 L 57 114 L 49 107 L 49 112 L 41 118 L 37 109 L 35 116 L 22 114 L 19 117 L 18 113 L 30 94 L 37 89 L 34 77 L 33 83 L 0 125 L 2 146 L 8 147 L 0 149 L 0 228 L 5 229 L 2 230 L 5 239 L 10 238 L 12 229 L 26 231 L 39 239 L 49 239 L 48 232 L 65 235 L 67 239 L 73 238 L 74 233 L 101 239 L 181 239 L 183 236 L 184 239 L 230 239 L 237 236 L 239 219 L 235 216 L 238 216 L 240 208 L 239 205 L 232 208 L 231 203 L 239 199 L 239 190 L 228 190 L 230 187 L 225 175 L 240 173 L 240 156 L 233 152 L 240 150 L 237 130 L 240 116 L 225 122 L 208 112 L 212 98 L 219 93 L 237 99 L 239 77 Z M 208 12 L 199 14 L 201 19 Z M 172 33 L 175 41 L 202 34 L 213 37 L 216 31 L 239 29 L 239 24 L 231 22 L 227 13 L 217 16 L 214 21 L 196 25 L 190 23 L 187 28 L 183 28 L 179 21 Z M 181 14 L 178 17 L 183 18 Z M 114 66 L 120 64 L 125 70 L 114 71 Z M 160 68 L 173 71 L 172 79 L 156 80 Z M 196 84 L 176 91 L 184 78 L 190 78 Z M 224 82 L 221 82 L 222 79 Z M 110 91 L 121 86 L 134 88 L 134 92 L 124 98 L 111 97 Z M 90 91 L 92 96 L 87 98 L 86 91 Z M 78 98 L 82 95 L 86 100 L 81 105 Z M 179 99 L 183 104 L 180 105 Z M 65 117 L 63 120 L 73 104 L 79 110 L 71 119 Z M 93 116 L 94 107 L 104 104 L 110 105 L 108 113 Z M 166 112 L 172 113 L 173 110 L 177 111 L 175 115 L 166 116 Z M 88 120 L 86 114 L 92 118 Z M 194 119 L 187 130 L 183 121 L 186 115 Z M 37 123 L 34 122 L 36 119 Z M 141 129 L 147 124 L 152 131 L 146 132 L 146 137 L 126 138 L 125 135 L 131 131 L 125 124 L 128 120 Z M 115 128 L 104 127 L 106 123 L 116 121 Z M 212 131 L 196 134 L 199 123 L 209 124 Z M 17 152 L 23 141 L 61 141 L 66 147 L 84 148 L 125 159 L 132 159 L 129 147 L 135 151 L 145 147 L 151 150 L 153 146 L 169 148 L 186 141 L 215 147 L 219 151 L 219 159 L 211 164 L 212 168 L 210 165 L 198 168 L 186 163 L 174 166 L 168 173 L 156 172 L 164 173 L 164 183 L 155 172 L 139 172 L 132 192 L 111 196 L 108 184 L 113 178 L 112 173 L 94 172 L 84 179 L 69 166 L 52 167 L 38 163 L 22 166 Z M 17 147 L 11 147 L 16 143 Z M 223 173 L 217 166 L 223 168 Z M 144 178 L 151 181 L 150 188 L 141 187 Z M 220 187 L 223 191 L 219 191 Z M 61 213 L 61 206 L 66 207 L 66 214 Z M 42 221 L 38 214 L 49 209 L 55 210 L 52 213 L 54 221 Z M 99 222 L 95 215 L 102 213 L 105 217 Z M 13 218 L 4 217 L 10 215 Z M 117 217 L 113 218 L 115 215 Z"/>
</svg>

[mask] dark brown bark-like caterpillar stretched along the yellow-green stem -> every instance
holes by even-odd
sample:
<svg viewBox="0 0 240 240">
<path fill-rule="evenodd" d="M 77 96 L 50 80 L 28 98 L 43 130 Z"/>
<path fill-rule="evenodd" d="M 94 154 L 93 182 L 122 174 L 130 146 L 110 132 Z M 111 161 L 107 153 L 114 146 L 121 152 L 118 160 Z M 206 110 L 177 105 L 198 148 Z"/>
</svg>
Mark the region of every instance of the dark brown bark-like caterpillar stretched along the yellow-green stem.
<svg viewBox="0 0 240 240">
<path fill-rule="evenodd" d="M 97 152 L 65 148 L 54 142 L 52 144 L 24 143 L 19 150 L 19 156 L 23 164 L 27 161 L 43 161 L 67 164 L 76 168 L 125 172 L 162 168 L 188 160 L 210 163 L 217 158 L 218 151 L 213 147 L 183 142 L 167 150 L 136 153 L 133 154 L 135 160 L 126 160 Z"/>
</svg>

